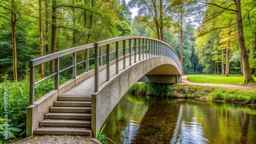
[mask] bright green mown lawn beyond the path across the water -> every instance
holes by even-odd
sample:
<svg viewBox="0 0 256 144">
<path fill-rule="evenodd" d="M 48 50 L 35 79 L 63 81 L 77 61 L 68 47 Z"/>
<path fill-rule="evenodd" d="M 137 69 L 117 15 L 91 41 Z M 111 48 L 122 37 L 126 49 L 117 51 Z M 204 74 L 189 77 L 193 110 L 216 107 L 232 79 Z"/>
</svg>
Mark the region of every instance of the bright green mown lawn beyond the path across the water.
<svg viewBox="0 0 256 144">
<path fill-rule="evenodd" d="M 242 75 L 229 75 L 229 77 L 221 75 L 186 75 L 189 82 L 194 83 L 212 83 L 212 84 L 243 84 L 244 77 Z M 254 80 L 256 78 L 254 77 Z"/>
</svg>

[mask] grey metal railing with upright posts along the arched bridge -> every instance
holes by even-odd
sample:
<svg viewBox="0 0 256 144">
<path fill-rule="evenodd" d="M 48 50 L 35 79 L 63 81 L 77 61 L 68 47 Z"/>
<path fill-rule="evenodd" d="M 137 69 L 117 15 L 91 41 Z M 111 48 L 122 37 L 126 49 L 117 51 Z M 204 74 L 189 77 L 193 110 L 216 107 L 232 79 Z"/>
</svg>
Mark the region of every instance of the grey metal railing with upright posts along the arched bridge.
<svg viewBox="0 0 256 144">
<path fill-rule="evenodd" d="M 121 44 L 120 44 L 121 43 Z M 132 45 L 133 44 L 133 45 Z M 121 47 L 121 48 L 120 48 Z M 90 51 L 89 49 L 94 49 Z M 77 53 L 84 52 L 84 60 L 77 62 Z M 59 58 L 73 54 L 72 65 L 59 70 Z M 94 58 L 89 59 L 89 55 L 94 55 Z M 72 68 L 73 79 L 77 77 L 77 65 L 84 64 L 84 71 L 89 71 L 89 61 L 94 60 L 94 78 L 95 78 L 95 92 L 99 89 L 99 67 L 106 65 L 106 81 L 110 80 L 110 65 L 111 62 L 116 64 L 116 74 L 119 72 L 119 61 L 123 60 L 123 69 L 126 68 L 126 57 L 129 57 L 129 65 L 132 65 L 132 56 L 134 62 L 151 58 L 151 57 L 169 57 L 172 58 L 178 65 L 181 73 L 182 67 L 180 59 L 174 49 L 167 43 L 143 36 L 126 36 L 108 39 L 100 42 L 95 42 L 87 45 L 82 45 L 68 49 L 65 51 L 50 54 L 44 57 L 33 59 L 29 61 L 30 66 L 30 105 L 34 104 L 35 99 L 35 85 L 54 77 L 54 89 L 59 89 L 59 74 L 67 69 Z M 35 67 L 42 63 L 54 60 L 54 73 L 35 82 Z"/>
</svg>

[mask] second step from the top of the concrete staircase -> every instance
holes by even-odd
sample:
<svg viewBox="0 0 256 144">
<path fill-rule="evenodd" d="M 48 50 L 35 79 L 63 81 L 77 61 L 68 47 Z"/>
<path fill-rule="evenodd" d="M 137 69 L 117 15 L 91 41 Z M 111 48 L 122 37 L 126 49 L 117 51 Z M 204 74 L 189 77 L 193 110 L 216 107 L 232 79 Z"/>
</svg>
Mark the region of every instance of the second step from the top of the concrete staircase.
<svg viewBox="0 0 256 144">
<path fill-rule="evenodd" d="M 92 102 L 57 101 L 55 107 L 91 107 Z"/>
</svg>

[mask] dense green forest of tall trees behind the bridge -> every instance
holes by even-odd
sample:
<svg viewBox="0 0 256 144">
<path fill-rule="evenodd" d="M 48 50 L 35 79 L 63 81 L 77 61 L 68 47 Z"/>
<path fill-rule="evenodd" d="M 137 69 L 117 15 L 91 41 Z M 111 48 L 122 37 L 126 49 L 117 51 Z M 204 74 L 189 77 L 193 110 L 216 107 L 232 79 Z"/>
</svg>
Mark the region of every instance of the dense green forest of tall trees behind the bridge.
<svg viewBox="0 0 256 144">
<path fill-rule="evenodd" d="M 131 8 L 138 8 L 134 18 Z M 239 74 L 250 83 L 256 76 L 255 24 L 255 0 L 0 0 L 0 93 L 8 86 L 10 132 L 26 133 L 31 59 L 109 38 L 148 36 L 174 48 L 184 74 Z M 61 66 L 71 63 L 63 59 Z M 52 74 L 52 66 L 40 65 L 37 77 Z M 70 75 L 62 74 L 62 80 Z M 36 97 L 51 85 L 38 86 Z"/>
</svg>

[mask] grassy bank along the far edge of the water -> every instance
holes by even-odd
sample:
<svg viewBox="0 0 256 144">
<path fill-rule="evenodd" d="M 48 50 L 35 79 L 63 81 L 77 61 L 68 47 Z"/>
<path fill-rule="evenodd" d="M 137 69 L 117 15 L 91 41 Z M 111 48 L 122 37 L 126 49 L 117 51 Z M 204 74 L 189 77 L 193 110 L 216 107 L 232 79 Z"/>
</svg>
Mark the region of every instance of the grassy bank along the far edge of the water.
<svg viewBox="0 0 256 144">
<path fill-rule="evenodd" d="M 158 98 L 198 98 L 222 102 L 256 104 L 256 90 L 195 85 L 136 83 L 128 92 L 140 98 L 146 96 Z"/>
</svg>

